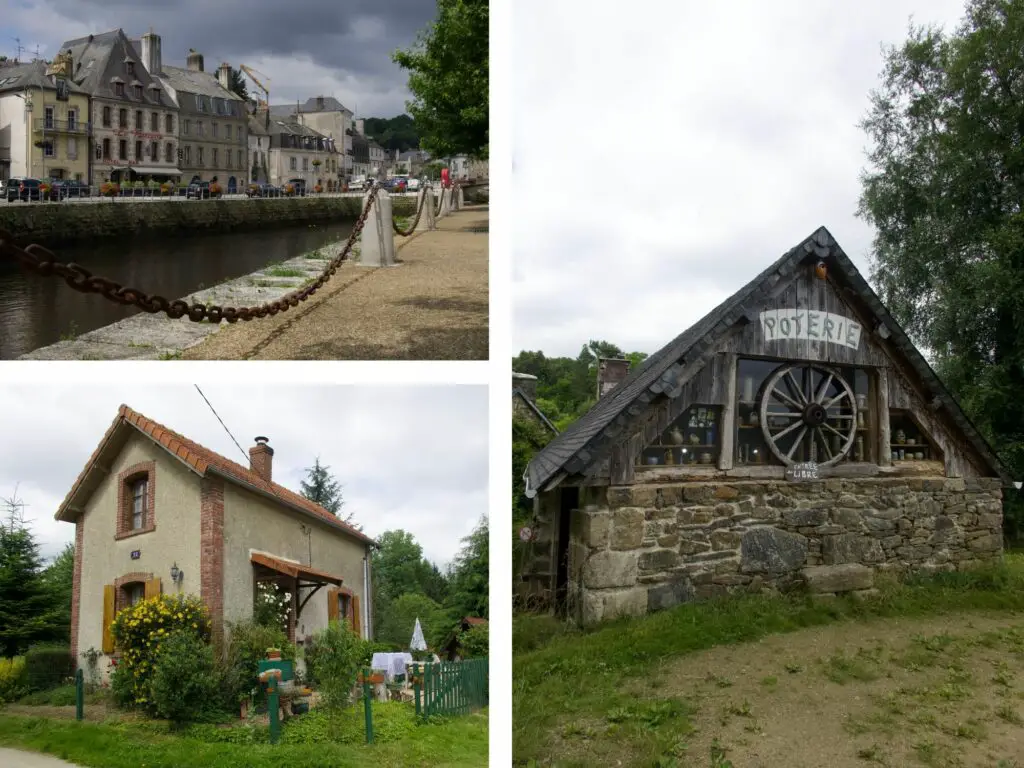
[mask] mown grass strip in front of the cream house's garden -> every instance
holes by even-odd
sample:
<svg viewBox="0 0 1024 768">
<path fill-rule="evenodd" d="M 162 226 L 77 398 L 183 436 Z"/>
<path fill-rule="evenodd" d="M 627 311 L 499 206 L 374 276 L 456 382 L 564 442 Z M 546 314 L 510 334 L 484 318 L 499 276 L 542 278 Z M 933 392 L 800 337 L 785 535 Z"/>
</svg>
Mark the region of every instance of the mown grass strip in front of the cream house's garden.
<svg viewBox="0 0 1024 768">
<path fill-rule="evenodd" d="M 280 744 L 267 729 L 198 725 L 172 732 L 153 721 L 78 723 L 4 715 L 0 745 L 43 752 L 92 768 L 344 768 L 345 766 L 485 766 L 487 712 L 417 725 L 408 705 L 375 705 L 374 744 L 361 707 L 336 725 L 317 713 L 285 725 Z"/>
</svg>

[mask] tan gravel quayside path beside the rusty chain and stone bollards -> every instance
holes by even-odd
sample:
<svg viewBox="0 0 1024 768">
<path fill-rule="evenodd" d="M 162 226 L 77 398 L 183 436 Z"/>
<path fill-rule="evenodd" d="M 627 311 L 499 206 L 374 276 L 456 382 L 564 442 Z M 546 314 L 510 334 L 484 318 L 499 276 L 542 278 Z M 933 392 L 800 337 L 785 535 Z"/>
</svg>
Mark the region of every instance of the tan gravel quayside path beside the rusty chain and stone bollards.
<svg viewBox="0 0 1024 768">
<path fill-rule="evenodd" d="M 486 206 L 397 238 L 401 264 L 342 266 L 313 298 L 274 317 L 222 328 L 183 359 L 487 358 Z"/>
</svg>

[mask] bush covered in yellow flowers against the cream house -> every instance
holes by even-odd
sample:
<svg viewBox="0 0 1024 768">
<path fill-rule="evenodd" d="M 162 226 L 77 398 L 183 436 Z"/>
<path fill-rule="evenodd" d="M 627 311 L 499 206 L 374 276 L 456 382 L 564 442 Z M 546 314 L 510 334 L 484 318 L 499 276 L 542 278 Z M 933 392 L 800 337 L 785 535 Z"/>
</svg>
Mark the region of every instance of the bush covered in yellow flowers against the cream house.
<svg viewBox="0 0 1024 768">
<path fill-rule="evenodd" d="M 210 614 L 195 595 L 158 595 L 120 611 L 111 625 L 120 659 L 115 674 L 126 703 L 152 710 L 151 686 L 161 643 L 181 632 L 210 640 Z"/>
</svg>

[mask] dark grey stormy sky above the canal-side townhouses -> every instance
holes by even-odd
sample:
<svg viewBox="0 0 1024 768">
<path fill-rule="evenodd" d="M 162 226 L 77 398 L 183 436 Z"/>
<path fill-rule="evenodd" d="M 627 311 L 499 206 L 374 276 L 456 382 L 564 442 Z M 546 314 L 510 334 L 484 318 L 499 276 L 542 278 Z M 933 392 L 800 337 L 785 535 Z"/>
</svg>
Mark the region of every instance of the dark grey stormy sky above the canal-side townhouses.
<svg viewBox="0 0 1024 768">
<path fill-rule="evenodd" d="M 2 6 L 0 53 L 8 56 L 16 53 L 14 38 L 51 58 L 65 40 L 119 27 L 138 37 L 152 27 L 165 63 L 184 67 L 195 48 L 208 71 L 227 61 L 262 72 L 272 103 L 332 95 L 356 117 L 384 118 L 403 113 L 410 98 L 407 73 L 391 52 L 412 45 L 437 9 L 433 0 L 2 0 Z"/>
</svg>

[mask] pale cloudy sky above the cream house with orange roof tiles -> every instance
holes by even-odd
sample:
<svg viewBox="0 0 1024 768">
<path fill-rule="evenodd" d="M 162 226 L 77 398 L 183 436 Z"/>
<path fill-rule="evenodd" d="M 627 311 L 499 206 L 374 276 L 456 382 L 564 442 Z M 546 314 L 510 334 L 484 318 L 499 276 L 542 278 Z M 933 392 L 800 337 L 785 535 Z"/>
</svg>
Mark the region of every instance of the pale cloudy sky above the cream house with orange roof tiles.
<svg viewBox="0 0 1024 768">
<path fill-rule="evenodd" d="M 121 403 L 243 466 L 269 437 L 273 478 L 295 492 L 319 455 L 343 513 L 371 537 L 412 532 L 442 568 L 486 514 L 486 387 L 199 385 L 245 456 L 194 386 L 0 387 L 0 498 L 17 485 L 45 557 L 75 538 L 53 513 Z"/>
</svg>

